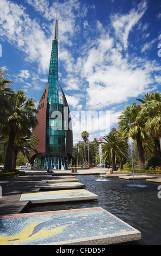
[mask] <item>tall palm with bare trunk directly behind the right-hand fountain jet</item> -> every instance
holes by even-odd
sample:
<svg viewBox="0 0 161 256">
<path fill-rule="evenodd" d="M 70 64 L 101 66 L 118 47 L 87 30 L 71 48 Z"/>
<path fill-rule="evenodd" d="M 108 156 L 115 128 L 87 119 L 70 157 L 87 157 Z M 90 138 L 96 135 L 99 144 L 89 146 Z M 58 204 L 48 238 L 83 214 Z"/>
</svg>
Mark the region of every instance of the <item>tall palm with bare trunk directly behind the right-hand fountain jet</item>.
<svg viewBox="0 0 161 256">
<path fill-rule="evenodd" d="M 142 139 L 145 139 L 145 124 L 140 118 L 141 107 L 137 103 L 126 106 L 119 117 L 119 130 L 123 137 L 132 137 L 137 141 L 139 169 L 145 169 L 145 159 Z"/>
</svg>

